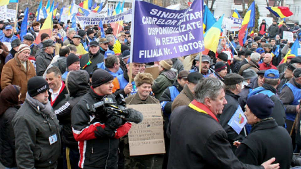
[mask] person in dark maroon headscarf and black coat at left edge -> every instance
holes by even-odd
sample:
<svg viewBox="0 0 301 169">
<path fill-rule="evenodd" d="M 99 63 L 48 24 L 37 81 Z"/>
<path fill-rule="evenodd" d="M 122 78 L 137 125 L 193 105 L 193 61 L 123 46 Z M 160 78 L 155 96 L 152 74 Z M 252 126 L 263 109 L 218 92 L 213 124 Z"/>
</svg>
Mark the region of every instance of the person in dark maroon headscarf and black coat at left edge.
<svg viewBox="0 0 301 169">
<path fill-rule="evenodd" d="M 8 168 L 17 168 L 15 155 L 15 136 L 12 120 L 18 105 L 20 87 L 8 85 L 0 93 L 0 162 Z"/>
</svg>

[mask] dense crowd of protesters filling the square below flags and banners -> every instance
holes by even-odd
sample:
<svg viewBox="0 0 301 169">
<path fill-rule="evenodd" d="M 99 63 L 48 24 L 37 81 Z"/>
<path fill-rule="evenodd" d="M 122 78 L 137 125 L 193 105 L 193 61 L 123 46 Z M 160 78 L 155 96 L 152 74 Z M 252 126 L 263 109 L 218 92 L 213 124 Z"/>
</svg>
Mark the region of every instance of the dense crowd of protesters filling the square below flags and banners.
<svg viewBox="0 0 301 169">
<path fill-rule="evenodd" d="M 103 31 L 72 29 L 54 18 L 52 34 L 39 35 L 45 19 L 37 22 L 30 13 L 22 42 L 23 18 L 20 10 L 16 25 L 0 21 L 0 162 L 6 168 L 298 165 L 298 156 L 292 159 L 301 150 L 301 57 L 291 53 L 298 23 L 279 28 L 277 20 L 262 20 L 243 46 L 231 34 L 208 55 L 129 64 L 131 22 L 114 34 L 110 24 Z M 294 33 L 292 42 L 283 31 Z M 158 67 L 158 77 L 146 67 Z M 132 124 L 91 114 L 104 97 L 160 104 L 166 153 L 130 156 Z M 228 122 L 239 108 L 248 124 L 237 132 Z"/>
</svg>

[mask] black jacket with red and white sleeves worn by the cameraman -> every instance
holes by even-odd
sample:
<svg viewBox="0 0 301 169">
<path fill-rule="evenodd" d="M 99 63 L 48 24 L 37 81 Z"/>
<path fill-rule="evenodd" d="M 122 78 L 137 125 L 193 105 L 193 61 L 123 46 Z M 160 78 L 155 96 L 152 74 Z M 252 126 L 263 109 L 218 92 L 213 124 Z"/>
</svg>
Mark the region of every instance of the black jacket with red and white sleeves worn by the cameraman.
<svg viewBox="0 0 301 169">
<path fill-rule="evenodd" d="M 125 123 L 115 131 L 113 138 L 97 138 L 94 135 L 96 127 L 105 127 L 105 118 L 97 119 L 87 110 L 87 105 L 92 108 L 94 103 L 103 99 L 104 96 L 96 94 L 92 88 L 88 93 L 82 96 L 81 100 L 73 107 L 71 111 L 71 123 L 73 136 L 79 141 L 80 161 L 79 167 L 85 169 L 103 169 L 118 167 L 118 146 L 119 138 L 125 136 L 131 123 Z M 114 102 L 115 95 L 108 95 Z"/>
</svg>

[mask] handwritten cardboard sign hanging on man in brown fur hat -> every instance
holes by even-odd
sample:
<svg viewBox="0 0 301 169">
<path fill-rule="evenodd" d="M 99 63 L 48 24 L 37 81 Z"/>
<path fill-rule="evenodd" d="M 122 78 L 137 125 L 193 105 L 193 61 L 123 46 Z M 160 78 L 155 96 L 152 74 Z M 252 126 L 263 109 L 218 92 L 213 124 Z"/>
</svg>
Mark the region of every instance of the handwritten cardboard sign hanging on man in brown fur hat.
<svg viewBox="0 0 301 169">
<path fill-rule="evenodd" d="M 140 111 L 143 121 L 129 130 L 130 156 L 165 153 L 163 117 L 160 104 L 127 105 Z"/>
</svg>

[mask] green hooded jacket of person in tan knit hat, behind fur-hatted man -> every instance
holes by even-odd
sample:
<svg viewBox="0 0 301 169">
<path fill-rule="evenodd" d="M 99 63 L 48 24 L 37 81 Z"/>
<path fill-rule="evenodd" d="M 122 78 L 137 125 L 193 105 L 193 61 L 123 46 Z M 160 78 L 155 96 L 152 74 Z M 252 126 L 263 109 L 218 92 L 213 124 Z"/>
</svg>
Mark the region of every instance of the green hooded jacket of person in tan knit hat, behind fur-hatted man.
<svg viewBox="0 0 301 169">
<path fill-rule="evenodd" d="M 177 72 L 172 70 L 163 70 L 151 86 L 151 90 L 154 92 L 155 98 L 159 100 L 164 90 L 167 87 L 172 86 L 175 80 L 177 80 Z"/>
</svg>

